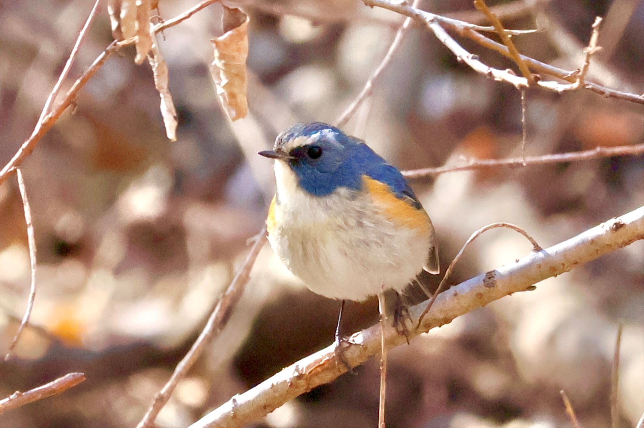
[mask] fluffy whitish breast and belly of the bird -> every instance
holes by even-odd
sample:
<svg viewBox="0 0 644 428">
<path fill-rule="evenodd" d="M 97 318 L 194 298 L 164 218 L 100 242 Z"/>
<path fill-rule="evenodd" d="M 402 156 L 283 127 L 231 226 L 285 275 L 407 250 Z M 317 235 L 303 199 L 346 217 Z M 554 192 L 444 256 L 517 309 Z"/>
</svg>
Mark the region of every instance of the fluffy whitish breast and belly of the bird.
<svg viewBox="0 0 644 428">
<path fill-rule="evenodd" d="M 364 300 L 383 287 L 402 290 L 427 260 L 430 236 L 394 224 L 364 192 L 279 197 L 289 200 L 274 207 L 270 244 L 317 294 Z"/>
</svg>

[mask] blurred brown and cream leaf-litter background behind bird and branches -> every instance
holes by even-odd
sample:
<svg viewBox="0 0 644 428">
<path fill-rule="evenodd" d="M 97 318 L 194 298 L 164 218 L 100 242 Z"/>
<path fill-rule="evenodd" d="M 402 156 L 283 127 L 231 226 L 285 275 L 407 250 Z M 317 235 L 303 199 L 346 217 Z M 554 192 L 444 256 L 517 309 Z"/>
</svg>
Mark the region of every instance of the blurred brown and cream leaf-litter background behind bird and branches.
<svg viewBox="0 0 644 428">
<path fill-rule="evenodd" d="M 32 132 L 91 3 L 0 1 L 3 165 Z M 466 0 L 422 3 L 431 12 L 473 12 Z M 169 19 L 193 4 L 162 0 L 159 13 Z M 571 70 L 581 64 L 594 17 L 605 16 L 599 42 L 605 49 L 593 58 L 589 78 L 644 92 L 644 2 L 515 5 L 508 28 L 545 28 L 515 37 L 520 51 Z M 111 41 L 102 7 L 74 78 Z M 336 120 L 402 21 L 357 0 L 249 1 L 247 10 L 251 118 L 231 127 L 213 91 L 209 39 L 218 34 L 221 13 L 214 4 L 160 38 L 179 113 L 176 143 L 165 138 L 149 66 L 135 66 L 128 48 L 109 58 L 81 91 L 75 114 L 66 112 L 24 163 L 38 292 L 32 325 L 15 356 L 0 362 L 0 397 L 68 371 L 83 371 L 88 380 L 1 415 L 0 427 L 137 424 L 265 218 L 272 169 L 255 153 L 294 121 Z M 512 66 L 469 40 L 462 44 L 490 66 Z M 527 154 L 641 143 L 643 113 L 641 105 L 587 91 L 530 91 Z M 516 156 L 520 119 L 513 87 L 476 75 L 433 35 L 412 28 L 345 130 L 410 169 Z M 634 210 L 644 202 L 643 183 L 639 156 L 451 173 L 413 187 L 439 234 L 444 269 L 485 224 L 513 222 L 547 247 Z M 488 233 L 452 283 L 529 248 L 511 231 Z M 565 427 L 562 388 L 583 428 L 609 426 L 621 320 L 620 427 L 632 427 L 644 410 L 643 260 L 644 245 L 632 244 L 396 348 L 387 426 Z M 22 203 L 10 179 L 0 186 L 0 353 L 23 314 L 29 275 Z M 185 427 L 331 343 L 338 302 L 304 289 L 268 245 L 251 275 L 231 322 L 180 383 L 158 427 Z M 369 325 L 376 313 L 374 301 L 349 305 L 345 330 Z M 357 376 L 316 388 L 252 426 L 373 427 L 377 368 L 370 361 Z"/>
</svg>

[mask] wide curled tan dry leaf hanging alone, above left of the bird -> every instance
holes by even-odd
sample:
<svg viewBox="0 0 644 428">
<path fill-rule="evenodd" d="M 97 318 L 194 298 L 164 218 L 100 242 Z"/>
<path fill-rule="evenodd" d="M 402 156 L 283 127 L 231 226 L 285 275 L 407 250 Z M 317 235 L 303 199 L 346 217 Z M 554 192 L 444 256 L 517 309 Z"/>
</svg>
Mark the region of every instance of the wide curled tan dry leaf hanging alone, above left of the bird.
<svg viewBox="0 0 644 428">
<path fill-rule="evenodd" d="M 210 65 L 217 95 L 232 121 L 248 113 L 246 58 L 249 17 L 242 10 L 223 6 L 223 35 L 212 39 L 214 61 Z"/>
</svg>

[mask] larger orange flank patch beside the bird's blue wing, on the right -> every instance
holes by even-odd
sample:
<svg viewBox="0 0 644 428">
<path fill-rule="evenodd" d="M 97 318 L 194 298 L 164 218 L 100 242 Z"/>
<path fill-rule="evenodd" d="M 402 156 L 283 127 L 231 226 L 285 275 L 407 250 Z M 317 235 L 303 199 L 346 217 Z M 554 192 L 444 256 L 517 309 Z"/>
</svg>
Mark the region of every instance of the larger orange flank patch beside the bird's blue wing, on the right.
<svg viewBox="0 0 644 428">
<path fill-rule="evenodd" d="M 424 210 L 417 210 L 404 199 L 397 197 L 387 184 L 367 175 L 363 175 L 363 183 L 375 204 L 383 209 L 386 217 L 401 226 L 417 229 L 421 233 L 428 233 L 430 218 Z"/>
</svg>

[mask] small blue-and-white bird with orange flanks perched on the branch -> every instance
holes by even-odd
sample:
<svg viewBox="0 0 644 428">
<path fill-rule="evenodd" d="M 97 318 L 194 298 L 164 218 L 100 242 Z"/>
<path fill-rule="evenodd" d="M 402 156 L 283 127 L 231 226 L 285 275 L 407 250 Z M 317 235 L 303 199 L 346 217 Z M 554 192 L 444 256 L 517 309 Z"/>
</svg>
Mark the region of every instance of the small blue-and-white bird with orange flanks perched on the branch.
<svg viewBox="0 0 644 428">
<path fill-rule="evenodd" d="M 308 289 L 342 301 L 340 319 L 346 300 L 401 292 L 423 269 L 439 273 L 430 217 L 365 141 L 327 123 L 296 123 L 259 154 L 274 159 L 270 245 Z"/>
</svg>

